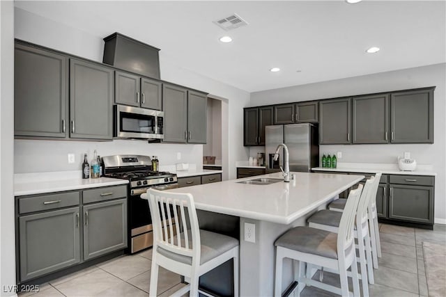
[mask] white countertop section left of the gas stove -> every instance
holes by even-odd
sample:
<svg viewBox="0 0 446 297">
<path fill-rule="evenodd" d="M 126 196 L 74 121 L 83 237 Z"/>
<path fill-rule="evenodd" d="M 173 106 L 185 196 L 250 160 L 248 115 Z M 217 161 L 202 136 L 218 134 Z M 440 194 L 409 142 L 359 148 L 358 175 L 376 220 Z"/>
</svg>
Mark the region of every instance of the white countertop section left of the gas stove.
<svg viewBox="0 0 446 297">
<path fill-rule="evenodd" d="M 82 179 L 81 174 L 80 170 L 17 173 L 14 175 L 14 195 L 23 196 L 128 184 L 128 180 L 109 177 Z"/>
</svg>

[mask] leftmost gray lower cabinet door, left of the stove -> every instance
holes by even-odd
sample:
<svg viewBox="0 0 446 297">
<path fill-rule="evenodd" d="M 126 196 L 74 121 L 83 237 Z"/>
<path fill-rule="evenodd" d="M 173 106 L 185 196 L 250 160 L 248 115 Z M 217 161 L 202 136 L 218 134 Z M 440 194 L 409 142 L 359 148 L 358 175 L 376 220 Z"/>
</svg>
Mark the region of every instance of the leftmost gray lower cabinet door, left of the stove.
<svg viewBox="0 0 446 297">
<path fill-rule="evenodd" d="M 19 218 L 20 281 L 80 262 L 79 207 Z"/>
</svg>

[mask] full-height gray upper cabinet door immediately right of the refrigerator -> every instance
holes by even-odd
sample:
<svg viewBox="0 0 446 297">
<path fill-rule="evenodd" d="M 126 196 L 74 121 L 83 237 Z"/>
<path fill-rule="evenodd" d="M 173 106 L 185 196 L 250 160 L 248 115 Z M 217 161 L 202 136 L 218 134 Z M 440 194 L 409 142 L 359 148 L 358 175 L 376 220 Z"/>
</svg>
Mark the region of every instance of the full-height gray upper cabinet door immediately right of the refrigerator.
<svg viewBox="0 0 446 297">
<path fill-rule="evenodd" d="M 351 143 L 351 98 L 330 99 L 320 102 L 319 143 Z"/>
</svg>

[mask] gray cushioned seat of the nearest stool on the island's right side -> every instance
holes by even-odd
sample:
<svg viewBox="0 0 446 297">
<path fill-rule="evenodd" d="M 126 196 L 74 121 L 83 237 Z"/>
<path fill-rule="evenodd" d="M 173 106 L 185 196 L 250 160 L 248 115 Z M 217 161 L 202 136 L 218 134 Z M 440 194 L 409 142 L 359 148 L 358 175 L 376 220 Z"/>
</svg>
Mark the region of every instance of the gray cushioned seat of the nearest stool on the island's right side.
<svg viewBox="0 0 446 297">
<path fill-rule="evenodd" d="M 294 227 L 280 236 L 275 246 L 337 259 L 337 234 L 311 227 Z"/>
</svg>

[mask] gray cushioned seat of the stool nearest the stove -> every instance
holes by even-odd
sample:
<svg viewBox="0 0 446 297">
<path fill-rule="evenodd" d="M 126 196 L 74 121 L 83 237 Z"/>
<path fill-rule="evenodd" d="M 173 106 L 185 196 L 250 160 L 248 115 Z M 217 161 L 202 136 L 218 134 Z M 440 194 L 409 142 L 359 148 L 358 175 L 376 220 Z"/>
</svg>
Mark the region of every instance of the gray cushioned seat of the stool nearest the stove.
<svg viewBox="0 0 446 297">
<path fill-rule="evenodd" d="M 189 245 L 192 245 L 192 234 L 190 230 L 187 230 Z M 181 232 L 180 238 L 183 240 L 183 232 Z M 201 254 L 200 254 L 200 264 L 206 263 L 209 260 L 222 255 L 224 252 L 231 250 L 238 246 L 238 240 L 233 237 L 226 236 L 223 234 L 218 234 L 215 232 L 210 232 L 206 230 L 200 230 L 200 239 L 201 239 Z M 174 236 L 174 242 L 176 243 L 178 240 L 178 236 Z M 177 262 L 182 262 L 184 264 L 192 264 L 192 257 L 187 257 L 183 255 L 178 255 L 174 252 L 170 252 L 169 250 L 165 250 L 164 248 L 157 248 L 157 252 L 169 259 L 173 259 Z"/>
</svg>

